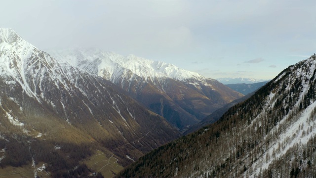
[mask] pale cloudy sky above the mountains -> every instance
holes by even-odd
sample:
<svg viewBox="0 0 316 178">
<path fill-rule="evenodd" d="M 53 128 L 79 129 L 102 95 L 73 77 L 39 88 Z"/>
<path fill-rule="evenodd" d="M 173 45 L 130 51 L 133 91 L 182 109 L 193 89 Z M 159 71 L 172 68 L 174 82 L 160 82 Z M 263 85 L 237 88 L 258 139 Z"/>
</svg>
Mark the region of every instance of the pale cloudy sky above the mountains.
<svg viewBox="0 0 316 178">
<path fill-rule="evenodd" d="M 316 53 L 315 0 L 6 0 L 0 27 L 40 49 L 97 47 L 205 77 L 273 79 Z"/>
</svg>

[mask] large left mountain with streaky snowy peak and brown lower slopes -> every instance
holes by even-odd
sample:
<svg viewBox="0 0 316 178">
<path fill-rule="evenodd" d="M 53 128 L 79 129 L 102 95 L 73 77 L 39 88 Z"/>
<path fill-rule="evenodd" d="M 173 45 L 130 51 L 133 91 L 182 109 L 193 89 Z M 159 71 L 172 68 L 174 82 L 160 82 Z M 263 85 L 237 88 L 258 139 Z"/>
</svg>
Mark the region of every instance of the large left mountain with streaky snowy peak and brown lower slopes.
<svg viewBox="0 0 316 178">
<path fill-rule="evenodd" d="M 57 61 L 4 28 L 0 88 L 0 166 L 32 167 L 32 177 L 117 173 L 180 136 L 111 82 Z M 108 166 L 92 164 L 96 153 Z M 46 173 L 39 173 L 42 167 Z"/>
</svg>

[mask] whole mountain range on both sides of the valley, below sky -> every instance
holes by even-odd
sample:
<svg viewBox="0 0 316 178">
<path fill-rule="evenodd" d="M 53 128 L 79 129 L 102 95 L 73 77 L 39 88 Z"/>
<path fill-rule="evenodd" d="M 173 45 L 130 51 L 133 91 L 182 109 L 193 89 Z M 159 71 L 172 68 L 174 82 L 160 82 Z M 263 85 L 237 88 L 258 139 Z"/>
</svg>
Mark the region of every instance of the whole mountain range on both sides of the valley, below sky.
<svg viewBox="0 0 316 178">
<path fill-rule="evenodd" d="M 315 54 L 243 96 L 172 64 L 47 53 L 0 28 L 0 175 L 316 177 L 315 83 Z"/>
</svg>

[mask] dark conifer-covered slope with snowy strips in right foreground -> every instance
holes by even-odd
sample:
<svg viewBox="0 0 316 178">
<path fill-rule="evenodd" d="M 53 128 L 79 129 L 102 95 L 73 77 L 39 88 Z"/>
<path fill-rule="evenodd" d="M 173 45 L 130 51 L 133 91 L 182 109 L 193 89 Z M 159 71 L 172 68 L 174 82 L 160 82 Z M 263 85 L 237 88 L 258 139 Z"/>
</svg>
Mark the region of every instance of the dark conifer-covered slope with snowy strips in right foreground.
<svg viewBox="0 0 316 178">
<path fill-rule="evenodd" d="M 118 177 L 315 177 L 316 55 Z"/>
</svg>

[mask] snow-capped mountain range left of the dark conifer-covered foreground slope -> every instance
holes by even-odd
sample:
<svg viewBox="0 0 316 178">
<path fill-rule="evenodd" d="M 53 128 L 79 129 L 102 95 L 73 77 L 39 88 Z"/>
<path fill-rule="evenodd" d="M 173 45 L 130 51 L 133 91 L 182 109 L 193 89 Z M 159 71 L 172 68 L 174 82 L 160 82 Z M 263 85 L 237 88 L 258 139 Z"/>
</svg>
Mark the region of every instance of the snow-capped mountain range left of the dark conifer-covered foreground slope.
<svg viewBox="0 0 316 178">
<path fill-rule="evenodd" d="M 113 177 L 243 96 L 134 55 L 47 53 L 5 28 L 0 88 L 0 175 L 17 177 Z"/>
</svg>

